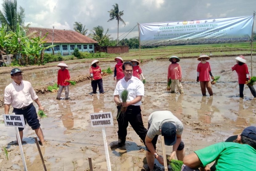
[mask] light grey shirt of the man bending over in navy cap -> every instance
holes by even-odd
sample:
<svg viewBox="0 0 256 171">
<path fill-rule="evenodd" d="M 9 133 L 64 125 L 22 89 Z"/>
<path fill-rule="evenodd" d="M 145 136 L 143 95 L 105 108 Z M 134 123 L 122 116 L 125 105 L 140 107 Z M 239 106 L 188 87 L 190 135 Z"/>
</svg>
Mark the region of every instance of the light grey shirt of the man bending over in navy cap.
<svg viewBox="0 0 256 171">
<path fill-rule="evenodd" d="M 176 126 L 176 134 L 181 135 L 183 132 L 182 122 L 175 117 L 170 111 L 155 111 L 148 117 L 148 124 L 150 125 L 147 136 L 153 139 L 156 135 L 162 135 L 160 129 L 165 122 L 171 122 Z"/>
</svg>

